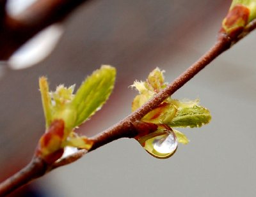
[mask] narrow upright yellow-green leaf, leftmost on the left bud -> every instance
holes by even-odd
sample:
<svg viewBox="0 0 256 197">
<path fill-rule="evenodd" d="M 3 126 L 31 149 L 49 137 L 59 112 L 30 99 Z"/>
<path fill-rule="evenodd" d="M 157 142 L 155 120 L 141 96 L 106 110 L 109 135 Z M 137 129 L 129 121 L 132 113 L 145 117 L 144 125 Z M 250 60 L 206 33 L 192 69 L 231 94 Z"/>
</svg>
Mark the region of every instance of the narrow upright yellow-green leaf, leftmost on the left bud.
<svg viewBox="0 0 256 197">
<path fill-rule="evenodd" d="M 39 88 L 44 108 L 45 128 L 48 129 L 52 121 L 52 105 L 51 96 L 49 94 L 49 85 L 46 77 L 39 78 Z"/>
</svg>

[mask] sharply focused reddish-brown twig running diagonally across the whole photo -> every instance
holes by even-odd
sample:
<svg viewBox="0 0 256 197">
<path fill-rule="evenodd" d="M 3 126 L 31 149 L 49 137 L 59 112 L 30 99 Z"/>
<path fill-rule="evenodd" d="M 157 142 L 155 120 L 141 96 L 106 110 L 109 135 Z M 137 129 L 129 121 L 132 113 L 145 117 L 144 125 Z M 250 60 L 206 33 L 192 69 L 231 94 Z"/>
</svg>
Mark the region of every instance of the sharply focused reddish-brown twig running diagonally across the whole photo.
<svg viewBox="0 0 256 197">
<path fill-rule="evenodd" d="M 49 2 L 47 0 L 47 2 Z M 69 1 L 65 1 L 69 2 Z M 81 1 L 79 1 L 81 2 Z M 115 126 L 107 129 L 106 131 L 100 133 L 99 135 L 94 136 L 90 140 L 93 140 L 93 147 L 89 151 L 95 150 L 106 143 L 112 142 L 119 138 L 132 138 L 137 135 L 137 131 L 134 131 L 132 122 L 140 120 L 144 115 L 150 112 L 152 109 L 156 108 L 164 99 L 171 96 L 175 91 L 177 91 L 182 85 L 186 84 L 191 78 L 193 78 L 199 71 L 201 71 L 205 66 L 207 66 L 212 60 L 214 60 L 218 55 L 222 54 L 225 50 L 230 48 L 232 44 L 241 40 L 250 33 L 256 27 L 256 20 L 253 20 L 245 29 L 244 32 L 236 39 L 231 40 L 226 34 L 220 34 L 218 41 L 215 45 L 198 61 L 196 61 L 191 67 L 189 67 L 182 75 L 177 77 L 172 84 L 168 85 L 166 89 L 159 92 L 150 99 L 145 105 L 141 106 L 136 112 L 131 113 L 124 120 L 121 120 Z M 23 170 L 20 170 L 18 173 L 5 180 L 0 184 L 0 196 L 8 194 L 13 190 L 17 189 L 20 186 L 28 183 L 29 181 L 41 177 L 46 172 L 58 168 L 60 166 L 72 163 L 77 159 L 81 158 L 86 153 L 85 150 L 79 150 L 75 154 L 72 154 L 68 157 L 60 159 L 53 164 L 46 164 L 42 159 L 34 157 L 31 163 L 28 164 Z"/>
</svg>

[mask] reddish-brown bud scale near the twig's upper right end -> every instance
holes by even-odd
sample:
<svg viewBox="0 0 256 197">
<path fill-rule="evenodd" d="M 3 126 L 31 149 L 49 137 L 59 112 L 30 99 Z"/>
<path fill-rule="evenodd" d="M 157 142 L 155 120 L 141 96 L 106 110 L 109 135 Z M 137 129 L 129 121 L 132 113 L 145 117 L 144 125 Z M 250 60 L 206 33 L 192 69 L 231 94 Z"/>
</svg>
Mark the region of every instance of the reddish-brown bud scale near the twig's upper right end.
<svg viewBox="0 0 256 197">
<path fill-rule="evenodd" d="M 248 24 L 249 16 L 250 10 L 242 4 L 237 4 L 232 10 L 228 11 L 223 20 L 220 33 L 226 33 L 232 39 L 236 38 Z"/>
</svg>

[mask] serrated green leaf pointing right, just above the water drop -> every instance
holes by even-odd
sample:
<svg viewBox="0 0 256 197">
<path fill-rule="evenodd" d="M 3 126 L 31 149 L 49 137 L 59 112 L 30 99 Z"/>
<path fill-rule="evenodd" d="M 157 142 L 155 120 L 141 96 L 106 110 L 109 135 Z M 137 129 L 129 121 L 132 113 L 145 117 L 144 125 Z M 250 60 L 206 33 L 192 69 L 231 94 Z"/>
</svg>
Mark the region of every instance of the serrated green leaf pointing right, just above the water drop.
<svg viewBox="0 0 256 197">
<path fill-rule="evenodd" d="M 180 127 L 180 128 L 195 128 L 201 127 L 204 124 L 207 124 L 211 120 L 211 114 L 207 108 L 203 106 L 180 103 L 178 108 L 178 112 L 176 113 L 175 117 L 173 117 L 171 122 L 167 122 L 168 126 L 170 127 Z"/>
</svg>

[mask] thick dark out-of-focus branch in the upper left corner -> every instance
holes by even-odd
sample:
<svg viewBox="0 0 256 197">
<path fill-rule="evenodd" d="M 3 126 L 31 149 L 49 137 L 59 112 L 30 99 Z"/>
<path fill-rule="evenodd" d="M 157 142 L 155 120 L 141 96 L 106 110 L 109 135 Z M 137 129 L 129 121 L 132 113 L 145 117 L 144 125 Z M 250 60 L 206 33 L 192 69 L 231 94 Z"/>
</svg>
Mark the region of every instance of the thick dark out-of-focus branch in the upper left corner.
<svg viewBox="0 0 256 197">
<path fill-rule="evenodd" d="M 88 0 L 38 0 L 19 16 L 6 16 L 0 27 L 0 60 L 8 59 L 15 50 L 47 26 L 65 19 Z M 4 0 L 0 0 L 0 6 Z M 3 6 L 1 7 L 3 8 Z M 0 10 L 1 11 L 1 10 Z"/>
</svg>

